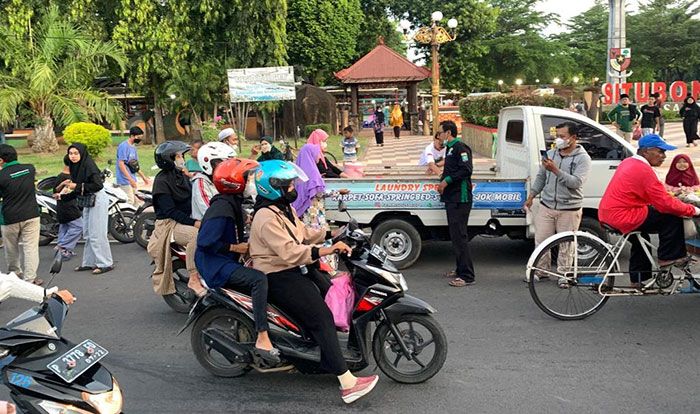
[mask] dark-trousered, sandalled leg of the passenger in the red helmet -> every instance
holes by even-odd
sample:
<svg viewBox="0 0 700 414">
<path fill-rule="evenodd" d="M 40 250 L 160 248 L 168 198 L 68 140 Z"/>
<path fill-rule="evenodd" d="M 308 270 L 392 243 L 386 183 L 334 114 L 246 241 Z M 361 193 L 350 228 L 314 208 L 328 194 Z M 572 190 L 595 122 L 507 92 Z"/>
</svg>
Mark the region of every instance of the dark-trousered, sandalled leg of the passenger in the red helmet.
<svg viewBox="0 0 700 414">
<path fill-rule="evenodd" d="M 253 318 L 255 319 L 255 330 L 258 332 L 258 339 L 255 342 L 255 347 L 271 350 L 272 342 L 267 331 L 270 330 L 267 324 L 267 276 L 255 269 L 249 267 L 241 267 L 231 273 L 228 279 L 228 284 L 233 286 L 246 285 L 250 286 L 251 297 L 253 298 Z"/>
</svg>

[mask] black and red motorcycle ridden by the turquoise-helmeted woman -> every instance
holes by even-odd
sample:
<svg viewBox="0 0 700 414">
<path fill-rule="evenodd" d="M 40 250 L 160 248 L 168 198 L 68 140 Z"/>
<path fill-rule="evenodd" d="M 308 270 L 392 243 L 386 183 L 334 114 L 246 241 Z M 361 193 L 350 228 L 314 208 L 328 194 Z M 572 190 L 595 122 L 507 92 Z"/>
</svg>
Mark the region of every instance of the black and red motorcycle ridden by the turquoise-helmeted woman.
<svg viewBox="0 0 700 414">
<path fill-rule="evenodd" d="M 340 211 L 347 212 L 341 202 Z M 387 253 L 372 245 L 369 235 L 350 217 L 334 241 L 352 248 L 342 260 L 352 275 L 357 300 L 349 332 L 338 332 L 343 355 L 351 371 L 366 368 L 372 353 L 377 366 L 394 381 L 416 384 L 437 374 L 447 358 L 447 338 L 431 316 L 426 302 L 406 295 L 403 275 L 388 261 Z M 190 325 L 192 350 L 197 361 L 220 377 L 239 377 L 251 369 L 280 372 L 296 368 L 320 372 L 320 351 L 284 310 L 267 309 L 270 338 L 282 362 L 269 366 L 253 354 L 255 329 L 250 296 L 235 289 L 209 290 L 190 311 L 182 333 Z M 375 325 L 372 333 L 372 325 Z"/>
</svg>

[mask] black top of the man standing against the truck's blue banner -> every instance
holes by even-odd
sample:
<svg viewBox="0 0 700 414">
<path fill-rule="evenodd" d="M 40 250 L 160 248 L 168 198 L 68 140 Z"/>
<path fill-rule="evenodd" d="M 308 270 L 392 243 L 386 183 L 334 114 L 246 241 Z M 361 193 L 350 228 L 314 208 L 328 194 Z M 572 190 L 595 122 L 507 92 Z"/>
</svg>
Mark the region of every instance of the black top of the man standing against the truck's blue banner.
<svg viewBox="0 0 700 414">
<path fill-rule="evenodd" d="M 447 143 L 443 181 L 447 182 L 440 200 L 445 203 L 471 203 L 472 201 L 472 149 L 459 138 Z"/>
</svg>

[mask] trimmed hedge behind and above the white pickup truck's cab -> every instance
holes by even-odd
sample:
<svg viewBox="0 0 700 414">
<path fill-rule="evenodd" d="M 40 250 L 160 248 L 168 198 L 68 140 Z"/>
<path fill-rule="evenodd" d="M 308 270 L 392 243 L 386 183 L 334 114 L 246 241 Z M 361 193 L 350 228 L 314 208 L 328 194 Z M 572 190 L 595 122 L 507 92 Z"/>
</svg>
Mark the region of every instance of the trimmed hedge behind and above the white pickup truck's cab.
<svg viewBox="0 0 700 414">
<path fill-rule="evenodd" d="M 488 128 L 498 127 L 498 114 L 508 106 L 547 106 L 550 108 L 566 108 L 565 98 L 557 95 L 528 96 L 528 95 L 497 95 L 464 98 L 459 101 L 459 112 L 462 119 L 470 124 Z"/>
</svg>

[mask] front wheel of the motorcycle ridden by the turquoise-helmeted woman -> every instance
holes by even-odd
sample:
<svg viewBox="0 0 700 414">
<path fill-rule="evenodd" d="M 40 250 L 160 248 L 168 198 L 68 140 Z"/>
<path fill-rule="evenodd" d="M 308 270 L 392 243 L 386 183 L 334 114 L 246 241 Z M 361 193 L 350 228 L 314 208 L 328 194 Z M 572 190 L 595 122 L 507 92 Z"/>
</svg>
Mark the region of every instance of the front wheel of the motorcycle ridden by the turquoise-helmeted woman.
<svg viewBox="0 0 700 414">
<path fill-rule="evenodd" d="M 403 339 L 403 351 L 389 321 L 379 325 L 372 340 L 372 351 L 379 369 L 402 384 L 419 384 L 437 374 L 447 359 L 447 338 L 442 327 L 428 315 L 406 314 L 391 323 Z"/>
</svg>

